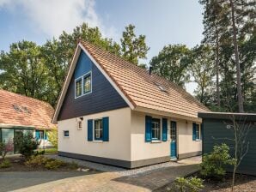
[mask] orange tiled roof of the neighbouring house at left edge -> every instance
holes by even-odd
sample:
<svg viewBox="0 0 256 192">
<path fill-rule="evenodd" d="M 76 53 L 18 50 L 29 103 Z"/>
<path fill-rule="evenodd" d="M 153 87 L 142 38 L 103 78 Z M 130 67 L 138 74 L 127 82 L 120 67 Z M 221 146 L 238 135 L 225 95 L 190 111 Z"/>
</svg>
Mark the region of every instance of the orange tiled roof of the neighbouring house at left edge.
<svg viewBox="0 0 256 192">
<path fill-rule="evenodd" d="M 0 128 L 3 124 L 52 129 L 56 127 L 51 123 L 53 112 L 44 101 L 0 90 Z"/>
</svg>

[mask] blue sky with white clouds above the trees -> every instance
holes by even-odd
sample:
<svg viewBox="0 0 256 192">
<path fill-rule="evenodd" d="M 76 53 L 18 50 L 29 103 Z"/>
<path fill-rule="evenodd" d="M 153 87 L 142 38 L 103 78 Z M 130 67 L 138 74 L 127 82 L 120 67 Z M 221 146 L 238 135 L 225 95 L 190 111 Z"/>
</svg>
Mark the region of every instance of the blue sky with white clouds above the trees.
<svg viewBox="0 0 256 192">
<path fill-rule="evenodd" d="M 42 45 L 82 22 L 119 42 L 125 26 L 133 24 L 146 35 L 150 50 L 143 63 L 149 63 L 164 45 L 199 44 L 202 13 L 197 0 L 0 0 L 0 51 L 22 39 Z M 189 93 L 194 88 L 186 85 Z"/>
</svg>

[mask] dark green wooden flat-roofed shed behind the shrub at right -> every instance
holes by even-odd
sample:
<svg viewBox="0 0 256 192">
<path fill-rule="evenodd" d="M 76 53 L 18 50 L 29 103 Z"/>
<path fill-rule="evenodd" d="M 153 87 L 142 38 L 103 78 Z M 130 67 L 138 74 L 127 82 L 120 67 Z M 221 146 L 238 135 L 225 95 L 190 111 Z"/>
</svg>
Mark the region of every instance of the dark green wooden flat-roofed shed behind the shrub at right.
<svg viewBox="0 0 256 192">
<path fill-rule="evenodd" d="M 243 145 L 243 152 L 247 150 L 247 153 L 242 159 L 237 172 L 256 175 L 256 114 L 207 112 L 198 113 L 198 117 L 203 119 L 203 154 L 212 152 L 216 144 L 226 143 L 230 148 L 231 155 L 234 157 L 234 120 L 235 123 L 239 124 L 239 128 L 243 130 L 242 133 L 248 131 Z"/>
</svg>

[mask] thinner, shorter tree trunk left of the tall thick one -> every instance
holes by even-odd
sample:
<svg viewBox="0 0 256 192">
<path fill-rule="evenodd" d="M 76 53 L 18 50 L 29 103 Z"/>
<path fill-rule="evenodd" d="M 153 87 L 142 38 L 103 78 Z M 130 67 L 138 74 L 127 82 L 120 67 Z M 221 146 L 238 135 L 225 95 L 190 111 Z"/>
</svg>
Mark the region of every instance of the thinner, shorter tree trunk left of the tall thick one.
<svg viewBox="0 0 256 192">
<path fill-rule="evenodd" d="M 220 85 L 219 85 L 219 34 L 216 29 L 216 103 L 218 109 L 221 107 Z"/>
</svg>

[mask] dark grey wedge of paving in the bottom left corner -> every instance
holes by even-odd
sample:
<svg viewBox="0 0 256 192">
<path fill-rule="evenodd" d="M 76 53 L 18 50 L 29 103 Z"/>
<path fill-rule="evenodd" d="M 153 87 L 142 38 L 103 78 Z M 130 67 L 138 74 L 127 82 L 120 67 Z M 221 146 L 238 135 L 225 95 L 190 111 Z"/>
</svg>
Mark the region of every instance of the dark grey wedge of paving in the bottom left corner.
<svg viewBox="0 0 256 192">
<path fill-rule="evenodd" d="M 0 191 L 7 192 L 34 185 L 58 181 L 64 178 L 80 177 L 100 171 L 10 171 L 0 172 Z"/>
</svg>

